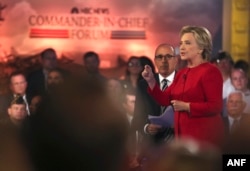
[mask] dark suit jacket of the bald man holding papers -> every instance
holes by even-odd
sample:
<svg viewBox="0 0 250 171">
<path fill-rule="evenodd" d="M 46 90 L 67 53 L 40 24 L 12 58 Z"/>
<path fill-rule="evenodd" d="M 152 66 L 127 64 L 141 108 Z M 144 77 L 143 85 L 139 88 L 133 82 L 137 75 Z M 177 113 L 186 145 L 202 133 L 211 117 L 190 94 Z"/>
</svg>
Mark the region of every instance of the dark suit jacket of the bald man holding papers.
<svg viewBox="0 0 250 171">
<path fill-rule="evenodd" d="M 155 79 L 160 84 L 158 74 L 155 74 Z M 149 123 L 148 115 L 160 116 L 161 106 L 150 96 L 147 92 L 148 84 L 142 79 L 138 83 L 135 101 L 134 118 L 132 121 L 132 128 L 139 130 L 146 141 L 158 143 L 163 141 L 165 137 L 164 131 L 152 136 L 144 133 L 144 126 Z"/>
</svg>

